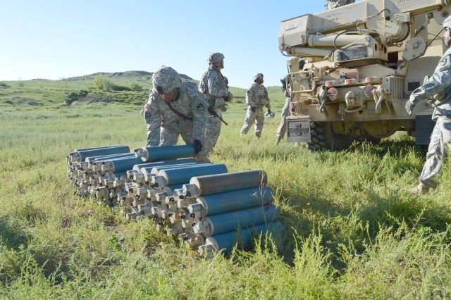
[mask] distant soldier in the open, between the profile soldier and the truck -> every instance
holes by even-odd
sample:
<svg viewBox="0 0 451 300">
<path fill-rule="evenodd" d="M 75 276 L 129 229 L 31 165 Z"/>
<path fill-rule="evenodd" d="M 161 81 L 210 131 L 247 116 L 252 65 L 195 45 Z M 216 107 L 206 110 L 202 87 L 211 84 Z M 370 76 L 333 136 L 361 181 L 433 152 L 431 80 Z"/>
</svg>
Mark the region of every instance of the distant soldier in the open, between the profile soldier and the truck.
<svg viewBox="0 0 451 300">
<path fill-rule="evenodd" d="M 268 114 L 271 114 L 271 104 L 269 104 L 268 91 L 263 85 L 263 74 L 258 73 L 254 76 L 254 83 L 247 89 L 246 104 L 247 112 L 245 125 L 242 125 L 241 135 L 247 134 L 251 124 L 255 122 L 255 136 L 257 139 L 261 136 L 263 130 L 264 114 L 263 107 L 268 108 Z"/>
</svg>

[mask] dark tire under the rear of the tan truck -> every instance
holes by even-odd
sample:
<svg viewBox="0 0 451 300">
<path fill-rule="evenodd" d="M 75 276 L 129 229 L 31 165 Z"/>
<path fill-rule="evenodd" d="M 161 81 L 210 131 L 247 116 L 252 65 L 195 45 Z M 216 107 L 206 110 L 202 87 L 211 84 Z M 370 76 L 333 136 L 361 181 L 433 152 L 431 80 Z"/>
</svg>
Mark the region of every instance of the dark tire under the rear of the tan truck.
<svg viewBox="0 0 451 300">
<path fill-rule="evenodd" d="M 310 123 L 311 142 L 308 143 L 311 151 L 346 149 L 352 144 L 350 135 L 337 135 L 333 133 L 330 122 Z"/>
</svg>

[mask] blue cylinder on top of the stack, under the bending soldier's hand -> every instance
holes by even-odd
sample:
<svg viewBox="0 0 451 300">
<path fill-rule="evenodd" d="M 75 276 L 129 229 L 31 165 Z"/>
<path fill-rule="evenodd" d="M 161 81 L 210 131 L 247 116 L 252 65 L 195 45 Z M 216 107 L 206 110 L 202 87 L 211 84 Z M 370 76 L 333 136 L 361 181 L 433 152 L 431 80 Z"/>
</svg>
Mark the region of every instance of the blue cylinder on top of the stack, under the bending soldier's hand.
<svg viewBox="0 0 451 300">
<path fill-rule="evenodd" d="M 194 145 L 149 146 L 135 149 L 142 161 L 164 161 L 165 159 L 193 157 Z"/>
</svg>

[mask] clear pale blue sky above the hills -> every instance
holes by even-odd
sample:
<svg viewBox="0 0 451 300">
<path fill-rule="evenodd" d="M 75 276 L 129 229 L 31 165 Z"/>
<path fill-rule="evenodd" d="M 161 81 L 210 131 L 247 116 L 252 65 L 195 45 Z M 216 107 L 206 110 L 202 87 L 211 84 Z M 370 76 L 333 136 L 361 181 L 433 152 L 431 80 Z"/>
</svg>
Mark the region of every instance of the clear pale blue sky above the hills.
<svg viewBox="0 0 451 300">
<path fill-rule="evenodd" d="M 226 56 L 230 86 L 255 73 L 280 86 L 280 21 L 324 10 L 326 1 L 2 1 L 0 80 L 31 80 L 169 65 L 199 80 L 212 52 Z"/>
</svg>

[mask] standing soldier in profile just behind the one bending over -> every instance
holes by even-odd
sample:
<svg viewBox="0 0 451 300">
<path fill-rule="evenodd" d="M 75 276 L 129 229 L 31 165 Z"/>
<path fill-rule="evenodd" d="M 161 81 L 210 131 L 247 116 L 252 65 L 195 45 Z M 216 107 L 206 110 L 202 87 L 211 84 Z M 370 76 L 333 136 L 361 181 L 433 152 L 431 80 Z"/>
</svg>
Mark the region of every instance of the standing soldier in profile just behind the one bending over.
<svg viewBox="0 0 451 300">
<path fill-rule="evenodd" d="M 221 73 L 224 68 L 224 56 L 221 53 L 213 53 L 210 54 L 208 61 L 209 68 L 202 74 L 199 91 L 205 95 L 208 104 L 222 117 L 222 112 L 227 110 L 226 102 L 232 101 L 233 98 L 232 93 L 228 92 L 228 80 Z M 214 115 L 210 115 L 205 127 L 204 147 L 199 156 L 208 156 L 218 142 L 220 134 L 221 120 Z"/>
</svg>

